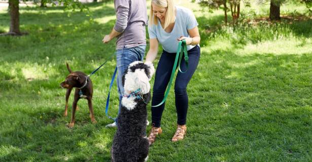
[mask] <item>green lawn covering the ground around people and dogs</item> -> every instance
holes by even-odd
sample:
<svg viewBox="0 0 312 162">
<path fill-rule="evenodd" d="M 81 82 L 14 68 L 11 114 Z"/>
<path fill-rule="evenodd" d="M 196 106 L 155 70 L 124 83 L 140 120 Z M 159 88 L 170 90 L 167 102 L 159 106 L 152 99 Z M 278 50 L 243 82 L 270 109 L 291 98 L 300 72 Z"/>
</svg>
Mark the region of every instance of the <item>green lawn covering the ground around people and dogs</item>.
<svg viewBox="0 0 312 162">
<path fill-rule="evenodd" d="M 149 161 L 312 161 L 312 20 L 233 29 L 222 26 L 222 12 L 180 2 L 194 10 L 201 34 L 200 62 L 188 86 L 188 134 L 170 142 L 177 119 L 171 90 Z M 78 103 L 75 128 L 66 127 L 71 111 L 62 117 L 65 62 L 89 74 L 115 48 L 114 41 L 101 42 L 115 23 L 113 3 L 89 7 L 92 20 L 84 13 L 67 17 L 58 7 L 21 8 L 21 30 L 29 34 L 0 37 L 0 161 L 110 161 L 115 129 L 105 128 L 111 122 L 105 104 L 115 59 L 91 78 L 98 123 L 91 124 L 86 100 Z M 244 8 L 245 18 L 264 17 L 267 9 Z M 284 15 L 304 12 L 300 5 L 282 8 Z M 3 9 L 0 20 L 0 31 L 7 31 Z M 110 115 L 117 106 L 115 85 Z"/>
</svg>

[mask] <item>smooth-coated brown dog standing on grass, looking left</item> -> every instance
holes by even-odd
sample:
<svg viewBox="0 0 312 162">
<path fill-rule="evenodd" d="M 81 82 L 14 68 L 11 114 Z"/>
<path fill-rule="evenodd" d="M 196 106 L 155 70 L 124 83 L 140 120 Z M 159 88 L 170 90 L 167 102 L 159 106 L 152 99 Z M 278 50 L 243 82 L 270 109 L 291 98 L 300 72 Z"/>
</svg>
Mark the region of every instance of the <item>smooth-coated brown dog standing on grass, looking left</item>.
<svg viewBox="0 0 312 162">
<path fill-rule="evenodd" d="M 93 86 L 91 79 L 83 72 L 76 71 L 73 72 L 70 68 L 70 66 L 66 63 L 66 67 L 68 71 L 70 72 L 70 75 L 68 75 L 65 78 L 65 81 L 63 81 L 60 86 L 62 88 L 66 88 L 66 104 L 65 104 L 65 112 L 64 116 L 67 116 L 67 108 L 68 108 L 68 98 L 71 95 L 72 89 L 75 87 L 75 96 L 73 101 L 73 113 L 72 113 L 72 119 L 71 123 L 68 125 L 68 127 L 73 128 L 75 125 L 75 112 L 77 109 L 77 102 L 80 98 L 86 98 L 88 100 L 89 105 L 89 111 L 90 111 L 90 118 L 92 123 L 96 123 L 94 119 L 93 114 L 93 105 L 92 105 L 92 94 L 93 94 Z"/>
</svg>

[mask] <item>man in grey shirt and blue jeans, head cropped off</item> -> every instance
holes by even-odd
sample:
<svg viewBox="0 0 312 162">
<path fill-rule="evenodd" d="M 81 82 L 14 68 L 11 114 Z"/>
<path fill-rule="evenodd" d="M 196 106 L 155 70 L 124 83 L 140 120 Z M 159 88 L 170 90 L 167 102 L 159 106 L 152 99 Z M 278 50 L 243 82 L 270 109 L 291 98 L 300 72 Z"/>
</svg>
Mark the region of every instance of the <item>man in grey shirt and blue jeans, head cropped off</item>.
<svg viewBox="0 0 312 162">
<path fill-rule="evenodd" d="M 117 37 L 117 87 L 119 93 L 119 109 L 124 93 L 122 74 L 134 61 L 143 61 L 146 48 L 147 9 L 146 0 L 114 0 L 116 24 L 112 32 L 105 35 L 103 43 Z M 118 111 L 119 114 L 119 111 Z M 116 121 L 107 127 L 116 127 Z"/>
</svg>

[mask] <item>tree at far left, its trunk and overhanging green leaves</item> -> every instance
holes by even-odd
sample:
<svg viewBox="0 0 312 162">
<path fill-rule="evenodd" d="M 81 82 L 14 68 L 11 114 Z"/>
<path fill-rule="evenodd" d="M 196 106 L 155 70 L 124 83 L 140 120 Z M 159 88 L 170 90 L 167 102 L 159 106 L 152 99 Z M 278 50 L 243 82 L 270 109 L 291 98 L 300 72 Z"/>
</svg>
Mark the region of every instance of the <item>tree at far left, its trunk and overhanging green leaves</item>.
<svg viewBox="0 0 312 162">
<path fill-rule="evenodd" d="M 27 0 L 24 0 L 24 2 Z M 55 6 L 55 1 L 53 0 L 43 0 L 44 3 L 52 3 Z M 78 0 L 57 0 L 58 4 L 64 4 L 65 11 L 76 11 L 79 9 L 80 11 L 88 10 L 86 6 L 82 5 Z M 0 35 L 22 35 L 26 33 L 22 33 L 19 28 L 19 0 L 9 0 L 9 15 L 10 15 L 10 31 L 8 33 L 0 34 Z"/>
</svg>

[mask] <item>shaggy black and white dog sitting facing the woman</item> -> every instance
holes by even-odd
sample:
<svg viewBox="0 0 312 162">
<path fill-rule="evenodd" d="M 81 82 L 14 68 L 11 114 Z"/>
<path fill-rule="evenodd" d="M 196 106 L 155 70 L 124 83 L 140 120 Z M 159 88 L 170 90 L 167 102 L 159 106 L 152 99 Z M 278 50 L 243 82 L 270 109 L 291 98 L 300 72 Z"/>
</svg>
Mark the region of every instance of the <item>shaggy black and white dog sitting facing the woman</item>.
<svg viewBox="0 0 312 162">
<path fill-rule="evenodd" d="M 124 96 L 112 146 L 112 162 L 143 162 L 148 158 L 147 109 L 151 98 L 152 63 L 133 62 L 124 73 Z"/>
</svg>

